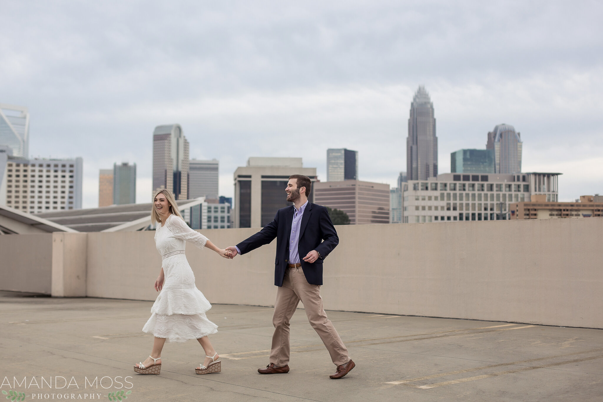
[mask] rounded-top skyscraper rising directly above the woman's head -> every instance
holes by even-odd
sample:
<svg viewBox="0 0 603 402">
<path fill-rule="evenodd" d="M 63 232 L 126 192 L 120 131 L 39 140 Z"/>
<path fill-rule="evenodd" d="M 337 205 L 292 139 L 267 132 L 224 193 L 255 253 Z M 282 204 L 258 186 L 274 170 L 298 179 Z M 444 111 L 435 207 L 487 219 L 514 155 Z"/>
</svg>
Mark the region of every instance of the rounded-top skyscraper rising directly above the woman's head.
<svg viewBox="0 0 603 402">
<path fill-rule="evenodd" d="M 169 189 L 176 199 L 188 198 L 189 143 L 180 124 L 158 125 L 153 131 L 153 192 Z"/>
</svg>

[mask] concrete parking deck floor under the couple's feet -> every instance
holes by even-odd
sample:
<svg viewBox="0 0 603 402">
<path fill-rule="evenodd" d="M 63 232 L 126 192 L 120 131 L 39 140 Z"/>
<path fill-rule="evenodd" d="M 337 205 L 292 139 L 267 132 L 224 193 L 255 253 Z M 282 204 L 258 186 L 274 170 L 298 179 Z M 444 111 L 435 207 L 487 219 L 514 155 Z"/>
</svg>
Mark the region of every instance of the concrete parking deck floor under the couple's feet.
<svg viewBox="0 0 603 402">
<path fill-rule="evenodd" d="M 335 366 L 303 310 L 291 323 L 291 371 L 260 375 L 272 309 L 214 305 L 207 316 L 219 325 L 210 338 L 221 373 L 195 375 L 204 353 L 189 341 L 166 344 L 160 375 L 137 375 L 132 365 L 153 341 L 140 331 L 152 303 L 24 296 L 0 292 L 0 379 L 2 390 L 24 391 L 26 400 L 109 400 L 115 388 L 91 391 L 86 379 L 126 387 L 119 377 L 128 375 L 128 402 L 603 400 L 602 330 L 327 312 L 356 362 L 346 377 L 330 380 Z M 65 399 L 67 388 L 49 389 L 42 377 L 79 388 L 70 386 Z M 14 378 L 22 386 L 13 387 Z"/>
</svg>

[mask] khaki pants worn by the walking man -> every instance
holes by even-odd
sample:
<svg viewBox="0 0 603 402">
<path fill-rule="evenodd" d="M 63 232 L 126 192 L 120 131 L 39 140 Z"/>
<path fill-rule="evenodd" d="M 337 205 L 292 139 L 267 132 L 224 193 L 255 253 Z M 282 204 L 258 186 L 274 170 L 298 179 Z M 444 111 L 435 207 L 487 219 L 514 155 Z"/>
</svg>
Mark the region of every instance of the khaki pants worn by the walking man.
<svg viewBox="0 0 603 402">
<path fill-rule="evenodd" d="M 289 321 L 297 309 L 297 305 L 303 303 L 306 315 L 312 328 L 322 339 L 327 347 L 331 360 L 336 366 L 347 363 L 350 357 L 347 348 L 341 342 L 339 334 L 333 327 L 333 323 L 327 318 L 323 308 L 323 298 L 320 297 L 320 286 L 309 284 L 300 268 L 287 268 L 283 286 L 279 287 L 274 302 L 274 334 L 272 336 L 272 350 L 270 351 L 270 363 L 277 366 L 289 364 Z"/>
</svg>

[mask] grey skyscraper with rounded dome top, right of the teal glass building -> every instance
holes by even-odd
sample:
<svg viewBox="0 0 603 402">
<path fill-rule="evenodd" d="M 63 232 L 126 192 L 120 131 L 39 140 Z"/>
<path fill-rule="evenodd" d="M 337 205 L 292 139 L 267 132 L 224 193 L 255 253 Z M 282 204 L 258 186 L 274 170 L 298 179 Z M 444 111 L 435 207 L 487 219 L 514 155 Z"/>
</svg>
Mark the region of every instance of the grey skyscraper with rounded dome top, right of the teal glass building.
<svg viewBox="0 0 603 402">
<path fill-rule="evenodd" d="M 494 150 L 494 173 L 522 171 L 522 138 L 510 124 L 499 124 L 488 133 L 486 149 Z"/>
</svg>

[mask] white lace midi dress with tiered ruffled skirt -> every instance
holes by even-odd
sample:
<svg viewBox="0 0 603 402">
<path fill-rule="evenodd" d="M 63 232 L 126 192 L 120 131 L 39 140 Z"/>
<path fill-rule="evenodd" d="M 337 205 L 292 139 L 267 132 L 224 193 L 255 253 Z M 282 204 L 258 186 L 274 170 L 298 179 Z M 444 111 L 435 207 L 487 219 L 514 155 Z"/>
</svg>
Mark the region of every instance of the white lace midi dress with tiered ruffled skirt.
<svg viewBox="0 0 603 402">
<path fill-rule="evenodd" d="M 175 215 L 170 215 L 163 227 L 157 225 L 155 245 L 163 257 L 165 281 L 142 331 L 168 342 L 186 342 L 218 331 L 218 325 L 205 315 L 212 305 L 195 286 L 195 275 L 186 260 L 187 241 L 202 249 L 207 237 Z"/>
</svg>

